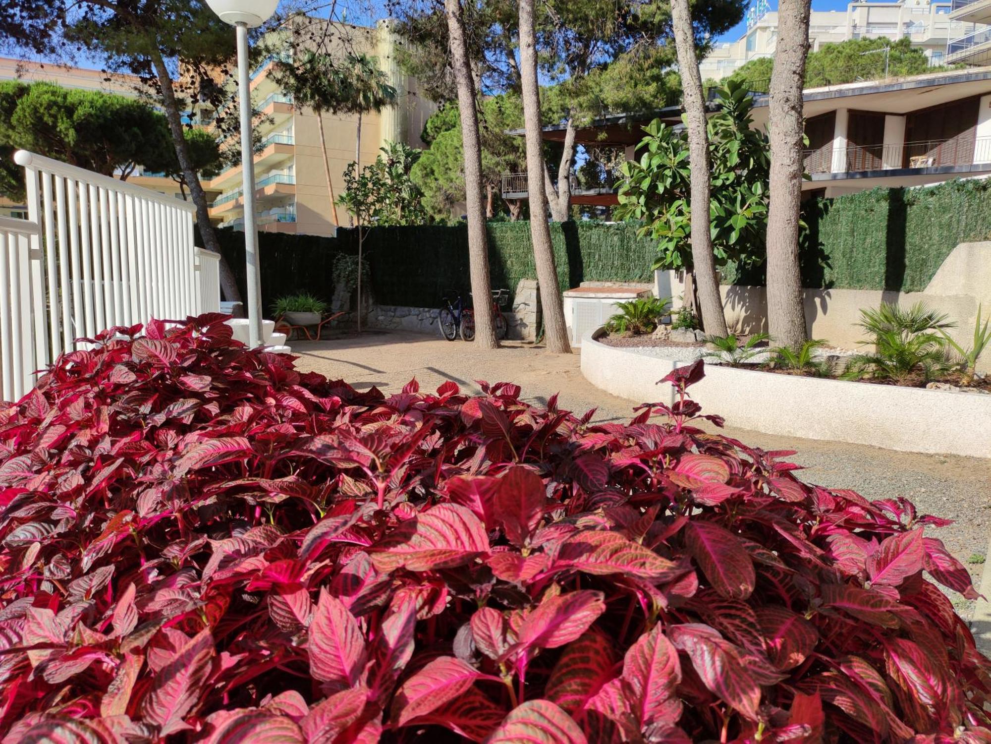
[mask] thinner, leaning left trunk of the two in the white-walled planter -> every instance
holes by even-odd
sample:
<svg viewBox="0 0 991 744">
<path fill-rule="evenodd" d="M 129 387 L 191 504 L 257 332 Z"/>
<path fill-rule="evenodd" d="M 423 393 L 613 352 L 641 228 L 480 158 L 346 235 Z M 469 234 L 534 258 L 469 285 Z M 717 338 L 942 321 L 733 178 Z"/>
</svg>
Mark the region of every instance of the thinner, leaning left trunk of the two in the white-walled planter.
<svg viewBox="0 0 991 744">
<path fill-rule="evenodd" d="M 685 97 L 685 118 L 688 123 L 689 162 L 692 164 L 692 265 L 702 323 L 706 332 L 726 335 L 726 319 L 719 297 L 716 278 L 716 257 L 710 233 L 709 204 L 712 200 L 710 182 L 709 132 L 706 122 L 706 98 L 702 90 L 699 59 L 695 54 L 695 35 L 688 0 L 671 0 L 671 26 L 678 50 Z"/>
</svg>

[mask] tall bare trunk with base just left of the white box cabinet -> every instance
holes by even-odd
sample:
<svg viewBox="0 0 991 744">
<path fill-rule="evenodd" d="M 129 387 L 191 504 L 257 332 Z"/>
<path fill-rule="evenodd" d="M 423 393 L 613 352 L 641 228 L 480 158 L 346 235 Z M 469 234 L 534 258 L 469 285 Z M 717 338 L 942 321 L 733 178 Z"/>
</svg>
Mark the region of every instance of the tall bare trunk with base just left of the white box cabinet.
<svg viewBox="0 0 991 744">
<path fill-rule="evenodd" d="M 544 193 L 543 143 L 540 139 L 540 88 L 537 85 L 537 42 L 533 26 L 533 0 L 519 0 L 519 66 L 522 72 L 523 124 L 526 130 L 526 183 L 530 201 L 530 239 L 533 261 L 540 285 L 544 336 L 547 350 L 557 354 L 571 352 L 568 328 L 564 322 L 561 290 L 558 287 L 554 248 L 547 224 Z M 462 109 L 464 111 L 464 109 Z"/>
</svg>

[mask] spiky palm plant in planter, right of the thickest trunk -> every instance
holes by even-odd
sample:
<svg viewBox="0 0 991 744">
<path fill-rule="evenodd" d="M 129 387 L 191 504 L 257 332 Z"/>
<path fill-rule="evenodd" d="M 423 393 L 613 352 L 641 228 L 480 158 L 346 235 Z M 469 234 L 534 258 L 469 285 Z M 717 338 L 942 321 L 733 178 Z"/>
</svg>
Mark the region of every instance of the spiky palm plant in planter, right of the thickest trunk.
<svg viewBox="0 0 991 744">
<path fill-rule="evenodd" d="M 947 369 L 941 333 L 955 323 L 948 321 L 945 313 L 931 310 L 925 303 L 916 303 L 908 310 L 881 303 L 877 310 L 860 310 L 860 316 L 857 325 L 870 335 L 861 344 L 873 349 L 850 357 L 844 380 L 870 377 L 904 385 L 920 375 L 930 380 Z"/>
</svg>

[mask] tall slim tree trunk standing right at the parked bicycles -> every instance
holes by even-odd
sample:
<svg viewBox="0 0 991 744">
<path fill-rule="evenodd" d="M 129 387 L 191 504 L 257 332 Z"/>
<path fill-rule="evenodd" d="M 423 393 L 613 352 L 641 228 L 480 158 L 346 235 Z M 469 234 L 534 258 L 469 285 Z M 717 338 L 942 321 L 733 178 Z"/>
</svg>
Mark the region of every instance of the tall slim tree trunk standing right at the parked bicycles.
<svg viewBox="0 0 991 744">
<path fill-rule="evenodd" d="M 465 153 L 465 202 L 468 207 L 468 265 L 475 305 L 475 343 L 484 349 L 498 347 L 492 312 L 492 278 L 489 274 L 489 236 L 482 200 L 482 144 L 476 108 L 475 78 L 465 42 L 461 0 L 444 0 L 451 60 L 458 86 L 461 141 Z"/>
</svg>

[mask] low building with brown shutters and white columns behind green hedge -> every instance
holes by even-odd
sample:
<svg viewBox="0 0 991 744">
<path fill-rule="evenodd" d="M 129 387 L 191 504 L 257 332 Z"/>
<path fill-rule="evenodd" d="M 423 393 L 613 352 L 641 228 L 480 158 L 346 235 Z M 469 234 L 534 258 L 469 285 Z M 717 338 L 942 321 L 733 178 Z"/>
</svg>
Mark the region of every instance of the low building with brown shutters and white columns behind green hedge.
<svg viewBox="0 0 991 744">
<path fill-rule="evenodd" d="M 803 98 L 809 138 L 804 194 L 831 197 L 878 186 L 991 178 L 991 66 L 807 88 Z M 632 160 L 644 125 L 660 118 L 678 127 L 681 117 L 679 106 L 615 114 L 580 128 L 575 141 L 587 149 L 621 148 Z M 754 128 L 767 129 L 766 94 L 754 97 L 752 118 Z M 563 125 L 543 130 L 546 140 L 560 141 L 564 135 Z M 575 180 L 573 185 L 574 204 L 618 203 L 618 180 L 592 187 Z M 525 174 L 503 176 L 502 196 L 526 198 Z"/>
</svg>

